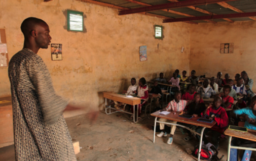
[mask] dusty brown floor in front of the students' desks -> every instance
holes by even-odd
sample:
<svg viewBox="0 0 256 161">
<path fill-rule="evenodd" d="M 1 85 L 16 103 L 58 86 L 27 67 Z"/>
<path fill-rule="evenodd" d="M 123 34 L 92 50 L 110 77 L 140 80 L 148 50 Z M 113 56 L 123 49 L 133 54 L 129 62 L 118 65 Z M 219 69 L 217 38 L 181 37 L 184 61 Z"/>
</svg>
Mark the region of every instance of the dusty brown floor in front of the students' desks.
<svg viewBox="0 0 256 161">
<path fill-rule="evenodd" d="M 167 138 L 156 137 L 153 143 L 152 126 L 154 118 L 145 119 L 138 124 L 129 120 L 130 115 L 116 113 L 106 115 L 101 112 L 96 123 L 92 126 L 86 114 L 67 118 L 66 122 L 72 139 L 80 142 L 80 153 L 78 160 L 195 160 L 186 152 L 186 148 L 192 151 L 199 143 L 192 139 L 188 142 L 183 140 L 177 129 L 172 145 L 166 144 Z M 77 124 L 79 124 L 77 126 Z M 227 137 L 228 138 L 228 137 Z M 224 154 L 223 161 L 227 159 L 228 139 L 222 139 L 220 143 L 220 154 Z M 255 155 L 253 154 L 251 160 Z M 0 148 L 0 160 L 15 160 L 14 146 Z M 254 159 L 256 160 L 256 159 Z"/>
</svg>

